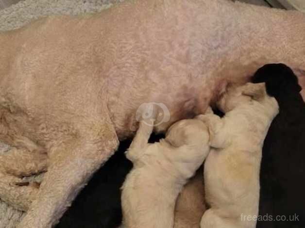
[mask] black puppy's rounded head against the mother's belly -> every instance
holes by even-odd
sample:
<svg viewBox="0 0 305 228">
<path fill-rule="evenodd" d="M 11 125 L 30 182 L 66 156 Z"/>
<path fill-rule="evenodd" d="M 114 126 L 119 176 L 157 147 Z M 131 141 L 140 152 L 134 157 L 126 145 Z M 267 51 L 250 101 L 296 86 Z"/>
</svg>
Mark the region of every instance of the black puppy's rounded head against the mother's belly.
<svg viewBox="0 0 305 228">
<path fill-rule="evenodd" d="M 268 95 L 275 98 L 287 93 L 299 94 L 302 90 L 297 76 L 291 68 L 284 64 L 267 64 L 262 66 L 256 71 L 252 81 L 254 83 L 266 82 Z"/>
</svg>

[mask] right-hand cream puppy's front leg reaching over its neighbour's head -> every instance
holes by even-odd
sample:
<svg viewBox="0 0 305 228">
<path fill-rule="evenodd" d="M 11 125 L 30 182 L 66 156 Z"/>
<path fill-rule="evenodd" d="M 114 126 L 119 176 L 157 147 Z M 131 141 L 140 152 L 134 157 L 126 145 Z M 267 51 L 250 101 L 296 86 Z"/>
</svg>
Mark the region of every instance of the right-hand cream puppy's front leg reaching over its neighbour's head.
<svg viewBox="0 0 305 228">
<path fill-rule="evenodd" d="M 230 136 L 225 130 L 223 119 L 215 114 L 198 115 L 196 118 L 202 120 L 207 125 L 211 147 L 224 148 L 227 146 Z"/>
</svg>

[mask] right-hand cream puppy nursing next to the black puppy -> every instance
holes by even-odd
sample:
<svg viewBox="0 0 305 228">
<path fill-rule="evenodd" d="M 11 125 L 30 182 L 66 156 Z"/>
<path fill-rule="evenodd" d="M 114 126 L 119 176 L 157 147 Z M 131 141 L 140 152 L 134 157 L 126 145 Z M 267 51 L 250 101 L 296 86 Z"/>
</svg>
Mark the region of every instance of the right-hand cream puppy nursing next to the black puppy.
<svg viewBox="0 0 305 228">
<path fill-rule="evenodd" d="M 204 163 L 206 202 L 202 228 L 255 228 L 261 150 L 278 104 L 265 84 L 228 87 L 218 108 L 225 115 L 202 115 L 213 147 Z M 248 220 L 247 216 L 251 216 Z M 246 219 L 245 219 L 246 217 Z"/>
</svg>

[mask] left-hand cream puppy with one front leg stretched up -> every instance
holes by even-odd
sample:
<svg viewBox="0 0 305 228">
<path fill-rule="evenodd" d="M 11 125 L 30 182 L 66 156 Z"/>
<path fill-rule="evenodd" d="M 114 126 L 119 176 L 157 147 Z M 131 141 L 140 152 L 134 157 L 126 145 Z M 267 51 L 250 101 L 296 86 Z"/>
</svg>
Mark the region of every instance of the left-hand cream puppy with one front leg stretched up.
<svg viewBox="0 0 305 228">
<path fill-rule="evenodd" d="M 125 228 L 172 228 L 176 198 L 209 152 L 199 119 L 173 124 L 159 143 L 148 143 L 152 131 L 153 120 L 142 120 L 126 153 L 134 167 L 122 186 Z"/>
</svg>

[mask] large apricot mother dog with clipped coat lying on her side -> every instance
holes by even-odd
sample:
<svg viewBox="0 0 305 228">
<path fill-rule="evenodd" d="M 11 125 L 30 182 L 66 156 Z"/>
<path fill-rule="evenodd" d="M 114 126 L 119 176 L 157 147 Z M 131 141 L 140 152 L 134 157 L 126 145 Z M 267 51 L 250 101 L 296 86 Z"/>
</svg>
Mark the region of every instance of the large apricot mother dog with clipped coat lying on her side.
<svg viewBox="0 0 305 228">
<path fill-rule="evenodd" d="M 0 33 L 0 140 L 16 150 L 0 157 L 0 198 L 27 211 L 18 228 L 58 222 L 135 134 L 142 103 L 167 107 L 154 129 L 164 131 L 266 62 L 302 74 L 304 24 L 302 13 L 227 0 L 141 0 Z M 39 189 L 14 184 L 45 171 Z"/>
</svg>

